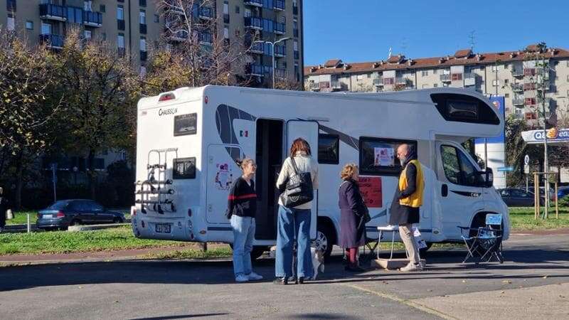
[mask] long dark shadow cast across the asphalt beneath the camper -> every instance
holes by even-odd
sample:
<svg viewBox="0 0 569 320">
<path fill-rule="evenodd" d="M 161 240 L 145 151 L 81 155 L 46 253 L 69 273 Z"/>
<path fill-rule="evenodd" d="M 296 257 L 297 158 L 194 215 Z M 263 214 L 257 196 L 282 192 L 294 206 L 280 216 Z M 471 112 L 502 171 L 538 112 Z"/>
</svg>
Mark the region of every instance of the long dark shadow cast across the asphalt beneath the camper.
<svg viewBox="0 0 569 320">
<path fill-rule="evenodd" d="M 536 270 L 556 269 L 562 271 L 569 269 L 569 264 L 561 264 L 569 257 L 568 253 L 568 251 L 563 250 L 524 250 L 516 248 L 515 250 L 504 252 L 506 260 L 504 265 L 500 265 L 497 262 L 481 265 L 461 265 L 460 262 L 462 262 L 466 252 L 435 251 L 425 256 L 427 259 L 427 270 L 424 272 L 381 272 L 381 274 L 373 270 L 364 274 L 346 274 L 344 266 L 341 264 L 341 256 L 334 256 L 326 264 L 326 272 L 319 274 L 319 279 L 321 280 L 313 283 L 366 282 L 381 279 L 390 281 L 403 279 L 529 279 L 541 277 Z M 398 253 L 399 257 L 401 255 L 403 254 Z M 456 273 L 461 270 L 464 270 L 464 274 Z M 272 281 L 274 260 L 260 260 L 255 264 L 255 271 L 265 277 L 263 282 Z M 455 273 L 452 273 L 452 271 Z M 518 274 L 506 275 L 501 271 L 518 271 Z M 519 274 L 520 272 L 523 274 Z M 550 277 L 563 276 L 551 274 Z M 233 284 L 234 279 L 233 267 L 228 260 L 213 262 L 129 260 L 0 268 L 0 292 L 33 287 L 111 283 Z M 326 315 L 318 314 L 318 316 Z"/>
</svg>

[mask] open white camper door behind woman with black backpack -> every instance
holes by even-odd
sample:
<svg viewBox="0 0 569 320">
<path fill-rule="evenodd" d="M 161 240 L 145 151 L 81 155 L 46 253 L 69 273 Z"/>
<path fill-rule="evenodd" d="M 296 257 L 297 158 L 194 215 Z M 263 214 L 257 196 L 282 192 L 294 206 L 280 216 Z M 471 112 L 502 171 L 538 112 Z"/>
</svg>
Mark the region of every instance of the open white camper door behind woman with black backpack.
<svg viewBox="0 0 569 320">
<path fill-rule="evenodd" d="M 287 122 L 287 145 L 288 150 L 294 139 L 302 138 L 308 142 L 312 150 L 312 158 L 318 161 L 318 122 L 304 120 L 289 120 Z M 318 216 L 318 191 L 314 191 L 314 201 L 312 201 L 312 217 L 310 221 L 310 238 L 316 239 L 317 236 L 317 216 Z"/>
</svg>

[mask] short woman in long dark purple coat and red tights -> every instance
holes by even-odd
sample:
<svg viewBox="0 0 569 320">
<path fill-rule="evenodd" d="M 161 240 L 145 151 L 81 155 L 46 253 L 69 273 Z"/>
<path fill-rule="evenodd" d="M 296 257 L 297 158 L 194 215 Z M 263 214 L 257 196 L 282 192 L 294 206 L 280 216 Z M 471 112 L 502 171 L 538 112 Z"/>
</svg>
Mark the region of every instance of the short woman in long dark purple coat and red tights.
<svg viewBox="0 0 569 320">
<path fill-rule="evenodd" d="M 340 176 L 343 181 L 338 191 L 341 213 L 338 244 L 346 249 L 349 257 L 346 271 L 361 272 L 363 269 L 358 266 L 357 256 L 358 247 L 366 245 L 366 222 L 364 218 L 367 208 L 358 186 L 358 166 L 346 164 Z"/>
</svg>

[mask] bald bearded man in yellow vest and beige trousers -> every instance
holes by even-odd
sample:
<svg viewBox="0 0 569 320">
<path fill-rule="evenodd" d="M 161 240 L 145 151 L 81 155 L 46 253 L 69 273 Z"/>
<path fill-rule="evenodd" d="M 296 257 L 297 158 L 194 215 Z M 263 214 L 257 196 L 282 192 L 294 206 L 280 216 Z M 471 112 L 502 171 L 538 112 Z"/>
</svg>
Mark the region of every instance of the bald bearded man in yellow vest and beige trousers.
<svg viewBox="0 0 569 320">
<path fill-rule="evenodd" d="M 411 146 L 401 144 L 397 149 L 397 157 L 403 169 L 391 203 L 389 224 L 399 225 L 399 235 L 409 253 L 409 264 L 400 271 L 419 271 L 422 270 L 422 265 L 412 226 L 413 223 L 419 223 L 419 208 L 422 206 L 425 181 L 421 164 L 417 160 L 417 152 Z"/>
</svg>

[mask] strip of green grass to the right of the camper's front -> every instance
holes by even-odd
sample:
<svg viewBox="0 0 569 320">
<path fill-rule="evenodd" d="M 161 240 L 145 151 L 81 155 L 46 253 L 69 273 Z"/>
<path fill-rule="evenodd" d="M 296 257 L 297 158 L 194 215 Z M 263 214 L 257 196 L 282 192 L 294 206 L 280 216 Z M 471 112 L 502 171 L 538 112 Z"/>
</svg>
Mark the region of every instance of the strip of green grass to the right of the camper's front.
<svg viewBox="0 0 569 320">
<path fill-rule="evenodd" d="M 542 208 L 543 213 L 543 208 Z M 548 219 L 533 217 L 533 207 L 510 208 L 511 228 L 513 230 L 550 230 L 569 228 L 569 208 L 559 208 L 559 219 L 555 219 L 555 207 L 551 208 Z"/>
</svg>

